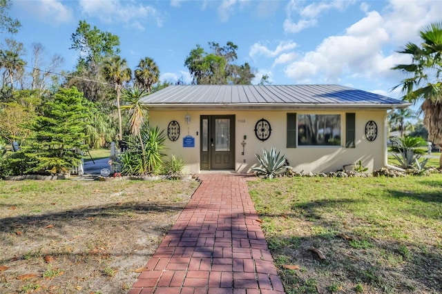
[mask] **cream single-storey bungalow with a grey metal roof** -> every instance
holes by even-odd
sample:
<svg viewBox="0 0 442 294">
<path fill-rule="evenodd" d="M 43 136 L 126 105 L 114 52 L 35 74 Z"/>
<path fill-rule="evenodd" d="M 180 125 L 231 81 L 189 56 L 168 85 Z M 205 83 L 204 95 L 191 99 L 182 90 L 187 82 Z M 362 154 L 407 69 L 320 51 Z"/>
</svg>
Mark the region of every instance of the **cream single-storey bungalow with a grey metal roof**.
<svg viewBox="0 0 442 294">
<path fill-rule="evenodd" d="M 169 86 L 142 99 L 184 172 L 249 173 L 275 147 L 294 170 L 387 165 L 387 112 L 410 104 L 338 85 Z"/>
</svg>

